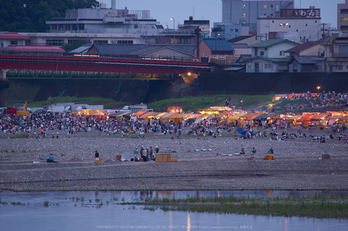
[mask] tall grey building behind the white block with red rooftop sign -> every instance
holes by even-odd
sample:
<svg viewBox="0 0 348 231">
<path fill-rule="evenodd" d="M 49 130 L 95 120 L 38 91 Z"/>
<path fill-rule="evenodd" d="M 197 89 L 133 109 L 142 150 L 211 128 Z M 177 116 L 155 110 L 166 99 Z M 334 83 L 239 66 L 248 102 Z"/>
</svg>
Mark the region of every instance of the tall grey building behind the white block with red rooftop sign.
<svg viewBox="0 0 348 231">
<path fill-rule="evenodd" d="M 294 0 L 222 0 L 222 22 L 257 28 L 259 17 L 279 17 L 281 9 L 293 9 Z"/>
</svg>

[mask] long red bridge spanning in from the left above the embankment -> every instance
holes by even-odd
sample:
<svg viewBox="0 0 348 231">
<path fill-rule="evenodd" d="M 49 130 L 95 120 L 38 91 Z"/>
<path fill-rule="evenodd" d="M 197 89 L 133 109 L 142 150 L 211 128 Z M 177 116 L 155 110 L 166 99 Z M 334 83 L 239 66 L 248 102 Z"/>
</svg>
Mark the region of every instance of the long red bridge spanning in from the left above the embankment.
<svg viewBox="0 0 348 231">
<path fill-rule="evenodd" d="M 210 72 L 208 63 L 150 59 L 0 54 L 0 69 L 183 74 Z"/>
</svg>

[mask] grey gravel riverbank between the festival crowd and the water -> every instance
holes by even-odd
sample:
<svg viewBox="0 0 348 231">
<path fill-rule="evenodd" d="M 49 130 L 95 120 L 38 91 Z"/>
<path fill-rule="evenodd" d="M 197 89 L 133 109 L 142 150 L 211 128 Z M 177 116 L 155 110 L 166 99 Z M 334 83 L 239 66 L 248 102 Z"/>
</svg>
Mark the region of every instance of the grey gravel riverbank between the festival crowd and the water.
<svg viewBox="0 0 348 231">
<path fill-rule="evenodd" d="M 312 131 L 324 133 L 324 131 Z M 307 133 L 309 135 L 309 132 Z M 70 138 L 69 138 L 70 137 Z M 309 139 L 270 141 L 237 139 L 234 134 L 171 139 L 105 136 L 101 133 L 59 134 L 59 138 L 0 139 L 2 190 L 348 190 L 348 145 L 338 140 L 324 144 Z M 176 163 L 118 162 L 133 156 L 135 147 L 159 146 Z M 245 156 L 234 154 L 241 148 Z M 255 160 L 250 151 L 255 147 Z M 272 147 L 275 161 L 264 161 Z M 103 163 L 94 163 L 98 150 Z M 204 151 L 205 150 L 205 151 Z M 58 163 L 43 159 L 53 153 Z M 218 154 L 218 155 L 217 155 Z M 331 154 L 331 160 L 319 159 Z M 33 163 L 40 162 L 40 163 Z"/>
</svg>

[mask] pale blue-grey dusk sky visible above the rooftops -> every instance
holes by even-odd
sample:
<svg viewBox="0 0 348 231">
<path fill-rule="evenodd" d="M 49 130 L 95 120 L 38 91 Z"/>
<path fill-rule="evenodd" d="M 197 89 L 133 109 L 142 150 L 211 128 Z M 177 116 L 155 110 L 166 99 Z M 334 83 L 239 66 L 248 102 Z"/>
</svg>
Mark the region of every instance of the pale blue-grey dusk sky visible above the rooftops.
<svg viewBox="0 0 348 231">
<path fill-rule="evenodd" d="M 98 0 L 111 7 L 111 0 Z M 331 23 L 331 27 L 337 27 L 337 4 L 345 0 L 295 0 L 295 8 L 308 8 L 315 6 L 321 9 L 321 22 Z M 151 18 L 157 19 L 164 28 L 172 29 L 175 25 L 184 24 L 193 16 L 196 20 L 210 20 L 210 26 L 214 22 L 222 21 L 221 0 L 116 0 L 116 8 L 129 10 L 150 10 Z"/>
</svg>

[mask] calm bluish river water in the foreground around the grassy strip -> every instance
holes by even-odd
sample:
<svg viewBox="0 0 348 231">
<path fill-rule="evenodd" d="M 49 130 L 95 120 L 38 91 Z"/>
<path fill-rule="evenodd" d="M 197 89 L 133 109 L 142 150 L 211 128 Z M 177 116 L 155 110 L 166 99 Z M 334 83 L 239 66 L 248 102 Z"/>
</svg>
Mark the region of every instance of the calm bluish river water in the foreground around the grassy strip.
<svg viewBox="0 0 348 231">
<path fill-rule="evenodd" d="M 348 196 L 341 191 L 0 192 L 0 230 L 347 230 L 348 221 L 144 210 L 140 198 Z M 17 205 L 17 202 L 20 205 Z"/>
</svg>

